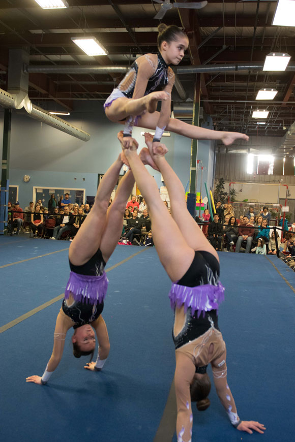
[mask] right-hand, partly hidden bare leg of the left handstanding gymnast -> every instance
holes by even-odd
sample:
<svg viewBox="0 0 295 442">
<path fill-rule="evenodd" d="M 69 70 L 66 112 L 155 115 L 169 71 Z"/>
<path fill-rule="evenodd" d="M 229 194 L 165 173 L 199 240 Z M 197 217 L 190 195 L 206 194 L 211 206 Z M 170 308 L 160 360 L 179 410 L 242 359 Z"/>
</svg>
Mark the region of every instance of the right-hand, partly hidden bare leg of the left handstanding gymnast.
<svg viewBox="0 0 295 442">
<path fill-rule="evenodd" d="M 100 243 L 105 262 L 110 258 L 122 234 L 124 210 L 133 186 L 134 177 L 131 170 L 129 170 L 120 181 L 115 198 L 107 212 L 106 224 Z"/>
</svg>

